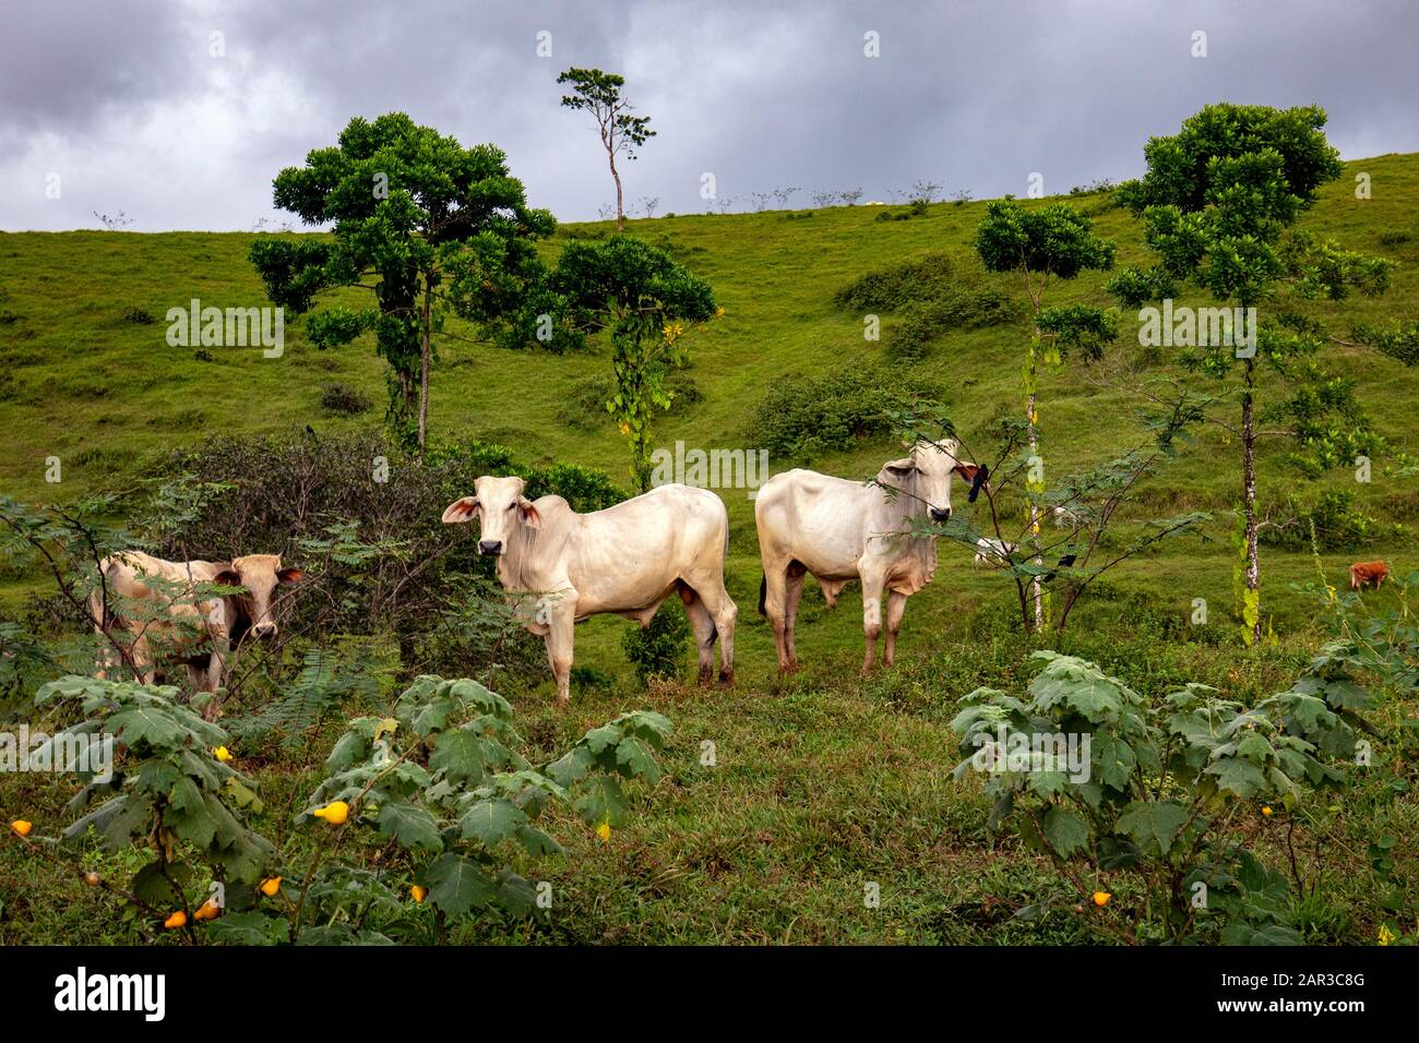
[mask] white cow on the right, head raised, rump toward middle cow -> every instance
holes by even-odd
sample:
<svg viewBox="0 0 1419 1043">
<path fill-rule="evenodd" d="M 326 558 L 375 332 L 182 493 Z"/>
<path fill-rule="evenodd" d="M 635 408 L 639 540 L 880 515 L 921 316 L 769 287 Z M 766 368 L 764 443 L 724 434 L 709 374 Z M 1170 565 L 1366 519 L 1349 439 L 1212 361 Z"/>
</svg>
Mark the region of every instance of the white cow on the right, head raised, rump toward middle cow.
<svg viewBox="0 0 1419 1043">
<path fill-rule="evenodd" d="M 887 592 L 887 644 L 891 666 L 907 599 L 931 582 L 937 541 L 907 534 L 915 519 L 951 518 L 951 478 L 973 480 L 976 465 L 956 458 L 958 444 L 917 443 L 911 456 L 883 465 L 876 484 L 832 478 L 816 471 L 785 471 L 765 482 L 753 502 L 763 583 L 759 612 L 773 624 L 779 673 L 797 670 L 793 626 L 805 573 L 813 573 L 829 607 L 843 586 L 863 582 L 863 673 L 877 658 L 881 596 Z M 890 487 L 897 490 L 888 495 Z"/>
</svg>

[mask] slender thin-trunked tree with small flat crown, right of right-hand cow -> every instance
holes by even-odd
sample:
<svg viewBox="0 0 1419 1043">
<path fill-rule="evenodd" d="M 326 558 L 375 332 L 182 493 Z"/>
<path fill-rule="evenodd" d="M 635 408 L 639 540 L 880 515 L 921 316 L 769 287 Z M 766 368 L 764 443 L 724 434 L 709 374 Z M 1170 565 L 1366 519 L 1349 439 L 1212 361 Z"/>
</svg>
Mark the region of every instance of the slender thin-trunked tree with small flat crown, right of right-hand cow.
<svg viewBox="0 0 1419 1043">
<path fill-rule="evenodd" d="M 1039 372 L 1040 363 L 1057 366 L 1061 355 L 1077 351 L 1097 356 L 1117 335 L 1114 316 L 1086 304 L 1047 308 L 1044 291 L 1051 280 L 1073 280 L 1083 271 L 1114 267 L 1114 244 L 1098 238 L 1093 221 L 1066 203 L 1026 209 L 1013 200 L 986 207 L 976 230 L 976 254 L 990 271 L 1015 272 L 1034 312 L 1034 325 L 1025 358 L 1025 419 L 1030 443 L 1032 474 L 1026 481 L 1029 536 L 1034 563 L 1042 565 L 1040 505 L 1044 497 L 1043 468 L 1039 467 Z M 1032 580 L 1034 629 L 1046 626 L 1044 595 L 1039 578 Z"/>
</svg>

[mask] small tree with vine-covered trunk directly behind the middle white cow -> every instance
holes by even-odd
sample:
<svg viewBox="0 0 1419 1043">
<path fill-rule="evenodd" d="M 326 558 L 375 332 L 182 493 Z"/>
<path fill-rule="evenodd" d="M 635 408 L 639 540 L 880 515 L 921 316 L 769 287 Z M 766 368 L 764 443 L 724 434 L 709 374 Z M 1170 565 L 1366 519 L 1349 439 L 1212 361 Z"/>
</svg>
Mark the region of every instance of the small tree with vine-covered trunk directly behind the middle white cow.
<svg viewBox="0 0 1419 1043">
<path fill-rule="evenodd" d="M 717 314 L 714 291 L 664 250 L 629 236 L 568 243 L 549 287 L 575 336 L 606 331 L 612 341 L 616 393 L 606 403 L 631 444 L 631 474 L 650 488 L 650 423 L 670 409 L 670 372 L 690 360 L 685 324 Z"/>
</svg>

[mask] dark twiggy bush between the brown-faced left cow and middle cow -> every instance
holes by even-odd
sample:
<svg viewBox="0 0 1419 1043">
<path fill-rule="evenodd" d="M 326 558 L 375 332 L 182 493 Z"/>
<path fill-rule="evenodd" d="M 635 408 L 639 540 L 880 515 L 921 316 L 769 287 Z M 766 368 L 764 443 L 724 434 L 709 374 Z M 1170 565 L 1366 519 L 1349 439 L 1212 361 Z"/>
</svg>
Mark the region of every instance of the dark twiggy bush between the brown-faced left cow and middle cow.
<svg viewBox="0 0 1419 1043">
<path fill-rule="evenodd" d="M 492 576 L 492 559 L 478 556 L 467 528 L 441 521 L 485 474 L 518 474 L 528 497 L 555 492 L 578 511 L 626 498 L 600 471 L 535 467 L 477 440 L 431 444 L 420 463 L 382 431 L 219 436 L 162 461 L 158 507 L 138 528 L 173 561 L 280 553 L 307 569 L 321 565 L 324 596 L 292 597 L 292 622 L 308 627 L 322 612 L 321 624 L 341 633 L 393 630 L 413 654 L 429 620 L 448 609 L 450 578 Z M 192 490 L 206 491 L 203 502 L 189 502 Z M 460 663 L 471 670 L 467 657 Z"/>
</svg>

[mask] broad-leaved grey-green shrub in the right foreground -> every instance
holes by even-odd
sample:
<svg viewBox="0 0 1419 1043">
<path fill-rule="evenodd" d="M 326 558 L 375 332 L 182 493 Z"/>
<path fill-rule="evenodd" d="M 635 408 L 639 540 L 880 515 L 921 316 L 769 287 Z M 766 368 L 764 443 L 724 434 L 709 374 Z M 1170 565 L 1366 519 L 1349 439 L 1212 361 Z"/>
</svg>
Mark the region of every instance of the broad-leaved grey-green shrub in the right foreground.
<svg viewBox="0 0 1419 1043">
<path fill-rule="evenodd" d="M 1230 826 L 1294 819 L 1317 789 L 1344 786 L 1366 727 L 1358 714 L 1375 705 L 1351 673 L 1354 650 L 1328 646 L 1252 708 L 1205 684 L 1148 700 L 1081 658 L 1032 660 L 1044 666 L 1025 695 L 978 688 L 951 728 L 966 758 L 956 778 L 988 778 L 988 827 L 1015 829 L 1074 888 L 1034 914 L 1127 888 L 1127 911 L 1094 911 L 1124 941 L 1298 942 L 1287 877 Z"/>
</svg>

